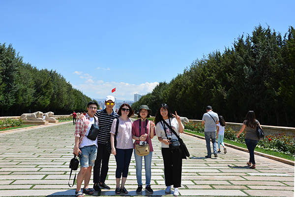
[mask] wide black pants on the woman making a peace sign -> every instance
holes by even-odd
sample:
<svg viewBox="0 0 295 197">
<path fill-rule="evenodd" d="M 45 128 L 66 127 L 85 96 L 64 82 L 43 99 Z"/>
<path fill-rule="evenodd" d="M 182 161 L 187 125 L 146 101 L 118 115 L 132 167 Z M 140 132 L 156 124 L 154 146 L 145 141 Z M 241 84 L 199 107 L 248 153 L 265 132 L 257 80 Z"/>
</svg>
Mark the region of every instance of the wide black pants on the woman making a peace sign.
<svg viewBox="0 0 295 197">
<path fill-rule="evenodd" d="M 170 148 L 162 148 L 164 161 L 164 176 L 166 186 L 181 187 L 182 151 L 171 151 Z"/>
</svg>

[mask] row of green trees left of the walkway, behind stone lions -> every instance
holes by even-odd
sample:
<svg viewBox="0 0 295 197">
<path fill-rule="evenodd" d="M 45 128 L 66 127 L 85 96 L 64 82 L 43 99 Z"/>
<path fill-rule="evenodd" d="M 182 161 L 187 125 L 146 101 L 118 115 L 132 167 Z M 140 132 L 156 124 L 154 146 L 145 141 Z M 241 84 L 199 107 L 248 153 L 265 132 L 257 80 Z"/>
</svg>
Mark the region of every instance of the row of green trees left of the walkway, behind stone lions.
<svg viewBox="0 0 295 197">
<path fill-rule="evenodd" d="M 0 44 L 0 116 L 28 111 L 70 114 L 86 111 L 90 100 L 56 71 L 23 63 L 11 44 Z"/>
</svg>

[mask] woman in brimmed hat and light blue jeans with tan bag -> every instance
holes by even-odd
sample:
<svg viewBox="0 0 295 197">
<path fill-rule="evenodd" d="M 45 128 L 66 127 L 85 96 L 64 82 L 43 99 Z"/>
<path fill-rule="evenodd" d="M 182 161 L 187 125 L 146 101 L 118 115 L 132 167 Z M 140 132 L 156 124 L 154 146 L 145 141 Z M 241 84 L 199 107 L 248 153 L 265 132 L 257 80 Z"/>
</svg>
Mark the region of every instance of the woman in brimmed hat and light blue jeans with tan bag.
<svg viewBox="0 0 295 197">
<path fill-rule="evenodd" d="M 155 133 L 155 124 L 152 121 L 148 121 L 148 117 L 151 115 L 151 109 L 148 108 L 148 105 L 141 105 L 139 107 L 139 112 L 137 113 L 138 120 L 134 121 L 132 124 L 132 137 L 135 139 L 135 144 L 140 144 L 140 142 L 148 143 L 149 145 L 149 154 L 146 156 L 139 156 L 136 154 L 134 149 L 134 158 L 136 162 L 136 179 L 138 188 L 136 193 L 141 193 L 143 190 L 142 182 L 142 168 L 143 168 L 143 157 L 145 158 L 145 170 L 146 170 L 146 192 L 153 193 L 150 188 L 150 179 L 151 179 L 151 157 L 152 157 L 152 144 L 151 139 L 154 137 Z"/>
</svg>

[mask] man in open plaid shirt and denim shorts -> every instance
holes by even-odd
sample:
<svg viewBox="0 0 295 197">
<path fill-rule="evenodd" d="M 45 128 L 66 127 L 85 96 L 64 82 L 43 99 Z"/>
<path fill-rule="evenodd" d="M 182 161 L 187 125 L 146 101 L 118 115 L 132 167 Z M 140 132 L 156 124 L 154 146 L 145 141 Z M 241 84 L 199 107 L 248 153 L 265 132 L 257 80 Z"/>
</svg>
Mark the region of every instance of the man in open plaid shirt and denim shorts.
<svg viewBox="0 0 295 197">
<path fill-rule="evenodd" d="M 80 156 L 80 171 L 77 176 L 76 197 L 84 197 L 83 193 L 92 195 L 93 191 L 89 189 L 89 181 L 91 177 L 92 166 L 94 165 L 97 153 L 97 137 L 91 140 L 87 137 L 91 126 L 98 119 L 94 117 L 97 111 L 97 102 L 90 101 L 87 104 L 88 113 L 82 118 L 78 119 L 75 128 L 75 146 L 74 154 Z M 81 192 L 81 185 L 84 180 L 83 193 Z"/>
</svg>

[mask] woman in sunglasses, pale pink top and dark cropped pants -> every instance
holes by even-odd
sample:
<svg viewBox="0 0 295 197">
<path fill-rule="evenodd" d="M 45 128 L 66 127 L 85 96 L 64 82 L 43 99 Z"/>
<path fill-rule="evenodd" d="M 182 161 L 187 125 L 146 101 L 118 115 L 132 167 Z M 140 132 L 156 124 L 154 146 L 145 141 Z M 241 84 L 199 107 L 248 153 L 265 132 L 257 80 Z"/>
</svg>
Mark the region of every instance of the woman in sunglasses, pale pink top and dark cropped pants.
<svg viewBox="0 0 295 197">
<path fill-rule="evenodd" d="M 128 175 L 128 168 L 131 161 L 133 151 L 133 140 L 132 140 L 132 121 L 130 117 L 133 115 L 133 110 L 129 104 L 124 103 L 118 110 L 118 119 L 114 119 L 111 127 L 111 145 L 112 154 L 115 155 L 117 169 L 116 169 L 116 194 L 121 192 L 128 194 L 125 189 L 125 182 Z M 118 124 L 118 133 L 115 139 L 116 124 Z M 115 140 L 117 145 L 115 147 Z M 120 179 L 122 176 L 122 182 L 120 187 Z"/>
</svg>

